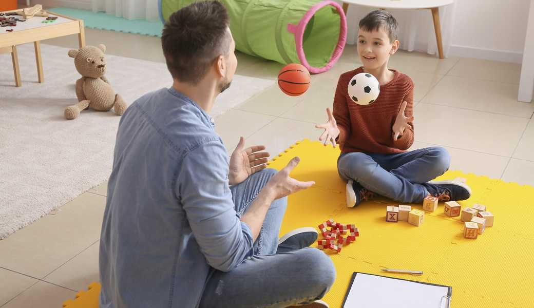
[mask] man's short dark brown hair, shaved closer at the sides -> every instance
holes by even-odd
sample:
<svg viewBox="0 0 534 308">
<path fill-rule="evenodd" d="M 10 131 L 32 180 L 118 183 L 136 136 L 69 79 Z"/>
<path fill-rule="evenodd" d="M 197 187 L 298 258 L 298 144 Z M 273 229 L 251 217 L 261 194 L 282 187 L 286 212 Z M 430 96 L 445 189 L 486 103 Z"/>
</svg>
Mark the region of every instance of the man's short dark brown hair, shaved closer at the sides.
<svg viewBox="0 0 534 308">
<path fill-rule="evenodd" d="M 218 56 L 228 56 L 229 22 L 225 7 L 218 1 L 195 2 L 172 13 L 161 35 L 172 77 L 197 84 Z"/>
</svg>

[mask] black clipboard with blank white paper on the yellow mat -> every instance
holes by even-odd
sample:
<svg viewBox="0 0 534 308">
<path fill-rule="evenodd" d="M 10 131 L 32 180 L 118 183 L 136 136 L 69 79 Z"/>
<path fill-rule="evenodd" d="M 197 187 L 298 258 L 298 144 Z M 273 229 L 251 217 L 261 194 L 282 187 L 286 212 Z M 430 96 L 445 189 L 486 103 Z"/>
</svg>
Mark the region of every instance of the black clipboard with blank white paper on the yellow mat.
<svg viewBox="0 0 534 308">
<path fill-rule="evenodd" d="M 390 297 L 387 296 L 388 294 L 390 294 Z M 403 299 L 402 296 L 399 297 L 399 294 L 405 295 L 405 299 L 409 298 L 407 300 L 413 299 L 415 301 L 414 298 L 417 298 L 417 304 L 406 303 L 406 307 L 450 308 L 452 287 L 436 285 L 435 283 L 354 272 L 347 294 L 345 294 L 345 298 L 343 299 L 342 307 L 401 307 L 402 305 L 399 304 L 405 299 Z M 419 296 L 426 297 L 426 302 L 421 301 Z M 392 303 L 394 301 L 396 302 Z M 422 303 L 419 304 L 419 302 Z"/>
</svg>

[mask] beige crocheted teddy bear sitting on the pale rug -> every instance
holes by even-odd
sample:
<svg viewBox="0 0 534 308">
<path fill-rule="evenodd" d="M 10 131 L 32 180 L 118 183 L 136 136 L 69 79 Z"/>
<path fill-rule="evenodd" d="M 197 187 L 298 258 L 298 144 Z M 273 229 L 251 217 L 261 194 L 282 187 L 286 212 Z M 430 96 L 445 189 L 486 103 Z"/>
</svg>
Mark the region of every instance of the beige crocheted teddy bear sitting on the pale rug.
<svg viewBox="0 0 534 308">
<path fill-rule="evenodd" d="M 76 119 L 81 110 L 91 109 L 109 111 L 111 108 L 117 115 L 122 115 L 127 108 L 126 102 L 109 85 L 106 73 L 106 46 L 99 44 L 85 46 L 79 50 L 69 50 L 68 55 L 74 58 L 74 64 L 82 78 L 76 81 L 78 104 L 65 108 L 67 120 Z"/>
</svg>

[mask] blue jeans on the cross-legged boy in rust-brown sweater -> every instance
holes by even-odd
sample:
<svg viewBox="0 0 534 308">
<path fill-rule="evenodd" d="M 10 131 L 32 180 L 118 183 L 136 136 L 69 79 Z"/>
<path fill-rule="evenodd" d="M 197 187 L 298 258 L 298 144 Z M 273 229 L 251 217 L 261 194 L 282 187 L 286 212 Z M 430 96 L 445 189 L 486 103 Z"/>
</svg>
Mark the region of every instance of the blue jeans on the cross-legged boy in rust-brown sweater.
<svg viewBox="0 0 534 308">
<path fill-rule="evenodd" d="M 449 170 L 451 157 L 443 147 L 398 154 L 342 153 L 337 171 L 344 180 L 401 203 L 421 203 L 428 195 L 421 185 Z"/>
</svg>

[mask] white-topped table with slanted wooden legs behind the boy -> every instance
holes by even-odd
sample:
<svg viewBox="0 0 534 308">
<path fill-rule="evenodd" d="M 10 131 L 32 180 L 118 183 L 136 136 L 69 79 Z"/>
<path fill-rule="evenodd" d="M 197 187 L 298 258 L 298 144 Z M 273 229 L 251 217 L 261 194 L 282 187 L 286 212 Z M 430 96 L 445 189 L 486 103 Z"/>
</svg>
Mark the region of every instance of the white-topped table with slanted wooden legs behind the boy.
<svg viewBox="0 0 534 308">
<path fill-rule="evenodd" d="M 437 50 L 439 59 L 443 59 L 443 43 L 441 40 L 441 25 L 439 25 L 439 7 L 452 4 L 454 0 L 341 0 L 343 11 L 347 14 L 349 4 L 358 4 L 369 7 L 379 7 L 380 9 L 428 9 L 432 12 L 434 19 L 434 30 L 436 32 Z"/>
</svg>

